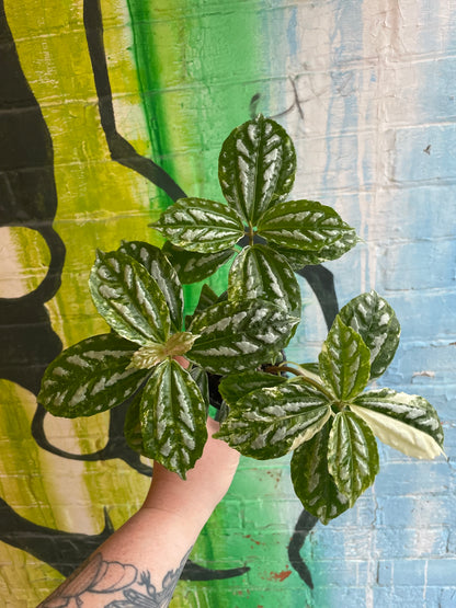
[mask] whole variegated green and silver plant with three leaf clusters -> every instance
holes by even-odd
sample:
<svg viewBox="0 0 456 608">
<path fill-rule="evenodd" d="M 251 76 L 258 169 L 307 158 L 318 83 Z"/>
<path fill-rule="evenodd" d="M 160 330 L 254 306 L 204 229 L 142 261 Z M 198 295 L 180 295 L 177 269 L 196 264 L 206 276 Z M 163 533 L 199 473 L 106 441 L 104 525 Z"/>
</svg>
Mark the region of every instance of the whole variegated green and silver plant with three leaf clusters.
<svg viewBox="0 0 456 608">
<path fill-rule="evenodd" d="M 286 200 L 295 170 L 280 125 L 260 115 L 236 128 L 219 157 L 227 204 L 179 199 L 152 225 L 167 239 L 163 248 L 134 241 L 98 252 L 90 290 L 112 331 L 55 359 L 38 399 L 68 417 L 129 400 L 130 447 L 185 478 L 207 438 L 208 375 L 221 377 L 218 437 L 258 459 L 293 451 L 296 494 L 328 523 L 374 482 L 376 437 L 434 458 L 443 433 L 422 397 L 366 390 L 391 362 L 400 333 L 394 310 L 374 291 L 342 308 L 318 363 L 284 360 L 301 310 L 295 271 L 334 260 L 357 241 L 332 208 Z M 182 284 L 205 279 L 232 257 L 226 291 L 217 296 L 204 285 L 184 319 Z"/>
</svg>

